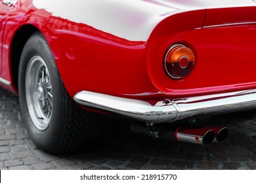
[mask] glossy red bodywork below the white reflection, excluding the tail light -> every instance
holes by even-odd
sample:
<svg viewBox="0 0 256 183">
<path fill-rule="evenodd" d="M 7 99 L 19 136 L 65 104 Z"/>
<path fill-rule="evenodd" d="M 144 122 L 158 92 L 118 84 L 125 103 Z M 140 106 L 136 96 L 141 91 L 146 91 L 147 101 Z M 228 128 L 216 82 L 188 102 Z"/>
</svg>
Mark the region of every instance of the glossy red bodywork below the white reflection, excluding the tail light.
<svg viewBox="0 0 256 183">
<path fill-rule="evenodd" d="M 11 81 L 11 86 L 5 87 L 15 92 L 12 40 L 21 27 L 33 25 L 45 35 L 72 97 L 87 90 L 154 103 L 160 98 L 256 88 L 256 56 L 252 54 L 256 50 L 255 10 L 213 8 L 164 14 L 161 16 L 166 18 L 147 41 L 129 41 L 91 25 L 53 16 L 34 7 L 32 0 L 19 1 L 7 18 L 0 76 Z M 193 50 L 196 65 L 186 78 L 174 80 L 164 71 L 163 57 L 169 46 L 177 43 Z"/>
</svg>

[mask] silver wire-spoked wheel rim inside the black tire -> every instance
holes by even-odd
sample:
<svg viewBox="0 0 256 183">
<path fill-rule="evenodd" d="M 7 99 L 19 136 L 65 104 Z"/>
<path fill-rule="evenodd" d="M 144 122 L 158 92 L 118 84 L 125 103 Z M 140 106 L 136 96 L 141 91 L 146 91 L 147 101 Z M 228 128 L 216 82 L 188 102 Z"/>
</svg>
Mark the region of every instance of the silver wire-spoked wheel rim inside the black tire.
<svg viewBox="0 0 256 183">
<path fill-rule="evenodd" d="M 47 65 L 39 56 L 34 56 L 28 63 L 26 100 L 35 127 L 47 129 L 53 114 L 53 92 Z"/>
</svg>

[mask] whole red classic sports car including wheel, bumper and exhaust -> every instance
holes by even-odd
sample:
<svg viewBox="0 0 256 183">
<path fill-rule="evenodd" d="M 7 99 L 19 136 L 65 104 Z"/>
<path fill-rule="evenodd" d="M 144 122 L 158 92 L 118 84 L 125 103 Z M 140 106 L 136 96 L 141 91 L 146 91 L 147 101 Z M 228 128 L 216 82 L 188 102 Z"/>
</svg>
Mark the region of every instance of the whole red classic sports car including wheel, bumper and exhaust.
<svg viewBox="0 0 256 183">
<path fill-rule="evenodd" d="M 225 127 L 179 120 L 256 108 L 255 12 L 253 0 L 0 0 L 0 86 L 51 153 L 83 146 L 95 112 L 154 139 L 223 141 Z"/>
</svg>

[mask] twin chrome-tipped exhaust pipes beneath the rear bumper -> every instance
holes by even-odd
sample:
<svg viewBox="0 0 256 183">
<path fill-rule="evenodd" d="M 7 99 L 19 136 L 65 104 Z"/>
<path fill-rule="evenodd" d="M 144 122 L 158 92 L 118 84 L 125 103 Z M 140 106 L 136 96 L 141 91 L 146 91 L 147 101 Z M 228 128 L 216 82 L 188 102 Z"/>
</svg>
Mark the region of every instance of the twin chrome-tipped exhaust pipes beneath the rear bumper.
<svg viewBox="0 0 256 183">
<path fill-rule="evenodd" d="M 158 137 L 160 139 L 203 145 L 213 141 L 222 142 L 228 136 L 228 129 L 226 127 L 168 127 L 167 125 L 154 125 L 154 131 L 152 131 L 152 127 L 148 128 L 146 125 L 142 124 L 131 124 L 130 129 L 134 133 L 146 134 L 150 137 L 154 137 L 154 139 Z"/>
</svg>

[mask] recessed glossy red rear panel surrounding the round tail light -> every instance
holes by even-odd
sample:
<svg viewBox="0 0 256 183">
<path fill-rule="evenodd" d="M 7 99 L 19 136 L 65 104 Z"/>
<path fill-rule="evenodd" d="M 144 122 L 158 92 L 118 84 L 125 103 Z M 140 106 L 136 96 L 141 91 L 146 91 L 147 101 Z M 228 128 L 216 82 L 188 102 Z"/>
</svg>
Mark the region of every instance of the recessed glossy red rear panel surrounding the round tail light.
<svg viewBox="0 0 256 183">
<path fill-rule="evenodd" d="M 148 71 L 156 88 L 177 97 L 255 88 L 254 67 L 248 66 L 254 65 L 256 60 L 252 54 L 256 50 L 253 36 L 256 16 L 245 13 L 255 10 L 256 7 L 206 10 L 205 20 L 202 18 L 203 11 L 187 12 L 161 22 L 148 41 L 147 54 Z M 214 14 L 219 11 L 226 18 L 213 22 Z M 243 24 L 235 21 L 233 16 L 236 12 L 240 12 L 240 16 L 245 13 L 239 19 Z M 168 29 L 168 25 L 175 25 L 175 29 Z M 194 51 L 196 66 L 186 78 L 170 80 L 164 72 L 160 72 L 163 70 L 161 63 L 169 46 L 179 43 Z"/>
</svg>

